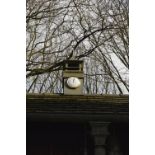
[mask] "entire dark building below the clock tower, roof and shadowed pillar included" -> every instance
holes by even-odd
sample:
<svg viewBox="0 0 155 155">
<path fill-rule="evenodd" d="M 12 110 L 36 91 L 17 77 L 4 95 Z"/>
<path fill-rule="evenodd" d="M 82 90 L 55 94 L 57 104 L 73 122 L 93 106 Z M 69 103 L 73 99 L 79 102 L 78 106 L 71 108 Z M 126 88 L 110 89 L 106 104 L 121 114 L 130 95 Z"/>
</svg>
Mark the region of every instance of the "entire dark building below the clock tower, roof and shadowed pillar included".
<svg viewBox="0 0 155 155">
<path fill-rule="evenodd" d="M 128 95 L 27 94 L 27 155 L 128 155 Z"/>
</svg>

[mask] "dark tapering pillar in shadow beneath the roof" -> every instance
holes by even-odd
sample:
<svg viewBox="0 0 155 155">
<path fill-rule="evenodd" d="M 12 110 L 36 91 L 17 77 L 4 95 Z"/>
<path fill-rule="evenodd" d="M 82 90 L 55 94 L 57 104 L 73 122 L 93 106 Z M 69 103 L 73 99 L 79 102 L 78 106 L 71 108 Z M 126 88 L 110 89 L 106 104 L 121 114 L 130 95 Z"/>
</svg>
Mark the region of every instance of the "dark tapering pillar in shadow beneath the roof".
<svg viewBox="0 0 155 155">
<path fill-rule="evenodd" d="M 91 122 L 91 133 L 94 138 L 94 155 L 106 155 L 106 140 L 109 135 L 110 122 Z"/>
</svg>

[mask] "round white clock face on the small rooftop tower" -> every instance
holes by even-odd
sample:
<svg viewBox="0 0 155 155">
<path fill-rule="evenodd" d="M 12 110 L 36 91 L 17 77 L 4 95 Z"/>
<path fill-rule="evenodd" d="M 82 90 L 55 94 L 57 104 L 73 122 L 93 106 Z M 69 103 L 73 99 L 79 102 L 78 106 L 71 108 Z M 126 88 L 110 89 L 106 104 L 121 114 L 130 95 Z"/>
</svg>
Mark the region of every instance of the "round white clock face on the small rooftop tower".
<svg viewBox="0 0 155 155">
<path fill-rule="evenodd" d="M 80 80 L 76 77 L 70 77 L 67 79 L 67 85 L 69 88 L 78 88 L 80 84 Z"/>
</svg>

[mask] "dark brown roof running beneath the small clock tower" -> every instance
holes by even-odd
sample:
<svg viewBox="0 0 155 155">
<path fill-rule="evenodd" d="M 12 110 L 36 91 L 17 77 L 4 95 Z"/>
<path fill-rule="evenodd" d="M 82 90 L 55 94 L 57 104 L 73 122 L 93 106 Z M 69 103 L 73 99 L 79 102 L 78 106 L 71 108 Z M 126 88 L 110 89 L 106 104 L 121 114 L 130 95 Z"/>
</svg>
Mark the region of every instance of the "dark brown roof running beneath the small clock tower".
<svg viewBox="0 0 155 155">
<path fill-rule="evenodd" d="M 27 94 L 27 118 L 128 121 L 128 95 Z"/>
</svg>

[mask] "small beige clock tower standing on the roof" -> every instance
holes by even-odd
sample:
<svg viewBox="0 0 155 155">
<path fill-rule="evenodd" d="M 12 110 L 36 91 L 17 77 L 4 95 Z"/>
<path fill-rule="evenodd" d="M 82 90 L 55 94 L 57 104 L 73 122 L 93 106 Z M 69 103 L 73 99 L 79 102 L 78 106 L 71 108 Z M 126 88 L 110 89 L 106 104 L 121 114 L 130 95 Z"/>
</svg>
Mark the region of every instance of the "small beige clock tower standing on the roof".
<svg viewBox="0 0 155 155">
<path fill-rule="evenodd" d="M 83 61 L 68 60 L 63 67 L 63 90 L 65 95 L 83 94 Z"/>
</svg>

